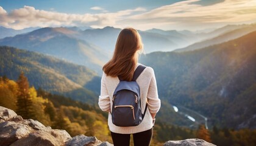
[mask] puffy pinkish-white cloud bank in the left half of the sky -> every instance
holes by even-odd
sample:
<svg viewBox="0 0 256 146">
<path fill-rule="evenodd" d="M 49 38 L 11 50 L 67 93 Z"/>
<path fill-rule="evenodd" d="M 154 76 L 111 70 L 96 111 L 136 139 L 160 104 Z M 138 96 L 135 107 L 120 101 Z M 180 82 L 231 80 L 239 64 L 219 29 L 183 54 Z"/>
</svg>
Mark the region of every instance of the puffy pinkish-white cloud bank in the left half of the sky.
<svg viewBox="0 0 256 146">
<path fill-rule="evenodd" d="M 85 13 L 84 15 L 80 15 L 37 10 L 27 5 L 21 9 L 15 9 L 7 13 L 0 7 L 0 25 L 12 29 L 49 26 L 115 26 L 116 21 L 123 19 L 124 16 L 144 10 L 143 8 L 137 8 L 115 13 Z"/>
</svg>

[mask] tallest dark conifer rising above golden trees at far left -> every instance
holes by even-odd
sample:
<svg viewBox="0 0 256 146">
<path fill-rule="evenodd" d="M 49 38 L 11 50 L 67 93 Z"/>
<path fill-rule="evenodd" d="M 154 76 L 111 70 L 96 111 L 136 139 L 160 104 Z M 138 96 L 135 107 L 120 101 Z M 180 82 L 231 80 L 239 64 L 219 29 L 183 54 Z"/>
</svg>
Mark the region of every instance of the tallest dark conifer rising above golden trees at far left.
<svg viewBox="0 0 256 146">
<path fill-rule="evenodd" d="M 16 113 L 22 116 L 24 119 L 34 119 L 35 114 L 32 109 L 32 98 L 29 96 L 29 82 L 24 73 L 21 72 L 18 80 L 18 99 L 17 99 L 17 111 Z"/>
</svg>

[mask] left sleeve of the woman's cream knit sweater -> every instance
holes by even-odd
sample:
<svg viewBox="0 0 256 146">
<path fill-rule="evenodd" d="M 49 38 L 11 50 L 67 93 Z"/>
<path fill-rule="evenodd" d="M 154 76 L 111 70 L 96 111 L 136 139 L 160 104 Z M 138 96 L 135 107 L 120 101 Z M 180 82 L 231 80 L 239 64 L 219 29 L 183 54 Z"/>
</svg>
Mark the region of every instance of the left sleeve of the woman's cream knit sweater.
<svg viewBox="0 0 256 146">
<path fill-rule="evenodd" d="M 102 111 L 110 112 L 110 97 L 108 96 L 107 87 L 105 85 L 105 73 L 103 72 L 101 78 L 101 95 L 99 96 L 99 108 Z"/>
</svg>

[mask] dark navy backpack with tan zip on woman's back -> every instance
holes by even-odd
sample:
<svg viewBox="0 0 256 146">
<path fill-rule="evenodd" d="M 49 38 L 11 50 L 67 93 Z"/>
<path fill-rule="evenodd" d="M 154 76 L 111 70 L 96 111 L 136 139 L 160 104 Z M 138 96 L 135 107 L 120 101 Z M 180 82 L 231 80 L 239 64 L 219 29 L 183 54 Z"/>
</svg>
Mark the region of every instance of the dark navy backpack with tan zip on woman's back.
<svg viewBox="0 0 256 146">
<path fill-rule="evenodd" d="M 139 125 L 146 113 L 148 104 L 141 113 L 140 86 L 136 82 L 146 66 L 139 65 L 133 74 L 132 81 L 121 80 L 113 94 L 112 122 L 118 127 L 133 127 Z"/>
</svg>

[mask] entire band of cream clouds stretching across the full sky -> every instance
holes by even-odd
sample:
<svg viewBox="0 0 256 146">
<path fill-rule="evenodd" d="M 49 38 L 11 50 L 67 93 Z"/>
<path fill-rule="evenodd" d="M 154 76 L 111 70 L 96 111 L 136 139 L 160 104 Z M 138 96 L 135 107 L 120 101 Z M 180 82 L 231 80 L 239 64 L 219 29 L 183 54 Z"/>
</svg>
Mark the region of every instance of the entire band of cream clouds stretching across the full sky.
<svg viewBox="0 0 256 146">
<path fill-rule="evenodd" d="M 101 7 L 100 13 L 70 14 L 24 6 L 6 12 L 0 6 L 0 25 L 13 29 L 48 26 L 135 27 L 136 29 L 204 29 L 226 24 L 256 22 L 255 0 L 226 0 L 213 5 L 195 4 L 188 0 L 164 5 L 153 10 L 143 7 L 108 12 Z"/>
</svg>

